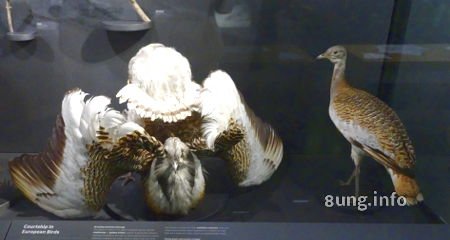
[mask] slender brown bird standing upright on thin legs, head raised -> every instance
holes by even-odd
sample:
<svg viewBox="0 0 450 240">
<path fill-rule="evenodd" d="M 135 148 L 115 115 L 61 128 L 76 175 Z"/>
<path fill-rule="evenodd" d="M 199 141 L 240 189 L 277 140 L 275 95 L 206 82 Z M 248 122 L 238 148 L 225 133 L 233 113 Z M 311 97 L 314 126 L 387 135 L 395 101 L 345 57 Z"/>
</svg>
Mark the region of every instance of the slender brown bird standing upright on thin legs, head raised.
<svg viewBox="0 0 450 240">
<path fill-rule="evenodd" d="M 344 47 L 331 47 L 317 58 L 326 58 L 334 64 L 329 114 L 352 146 L 355 169 L 344 185 L 354 179 L 355 194 L 359 195 L 360 162 L 368 155 L 386 168 L 396 193 L 405 197 L 408 205 L 423 201 L 414 178 L 414 148 L 397 114 L 378 98 L 350 86 L 345 79 Z"/>
</svg>

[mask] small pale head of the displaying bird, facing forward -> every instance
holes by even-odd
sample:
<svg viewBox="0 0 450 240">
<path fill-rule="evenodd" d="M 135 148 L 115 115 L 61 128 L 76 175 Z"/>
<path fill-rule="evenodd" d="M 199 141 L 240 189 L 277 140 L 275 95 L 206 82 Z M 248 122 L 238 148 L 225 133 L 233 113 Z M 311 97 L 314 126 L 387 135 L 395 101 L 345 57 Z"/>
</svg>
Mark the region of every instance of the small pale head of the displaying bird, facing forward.
<svg viewBox="0 0 450 240">
<path fill-rule="evenodd" d="M 177 137 L 170 137 L 165 141 L 164 151 L 166 159 L 175 171 L 193 161 L 189 147 Z"/>
</svg>

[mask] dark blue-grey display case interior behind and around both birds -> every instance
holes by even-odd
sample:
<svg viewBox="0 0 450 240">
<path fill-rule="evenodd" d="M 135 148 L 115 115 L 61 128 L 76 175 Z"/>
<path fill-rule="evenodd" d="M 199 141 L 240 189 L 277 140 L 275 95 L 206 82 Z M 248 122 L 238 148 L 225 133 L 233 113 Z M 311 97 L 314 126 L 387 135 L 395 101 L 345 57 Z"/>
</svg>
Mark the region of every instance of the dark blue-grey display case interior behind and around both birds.
<svg viewBox="0 0 450 240">
<path fill-rule="evenodd" d="M 159 42 L 189 60 L 199 84 L 214 70 L 226 71 L 248 106 L 283 140 L 283 161 L 267 182 L 241 188 L 233 183 L 227 162 L 203 158 L 208 172 L 205 199 L 182 217 L 159 218 L 149 211 L 136 175 L 137 181 L 126 187 L 120 181 L 113 184 L 110 211 L 132 220 L 450 219 L 447 1 L 141 0 L 150 29 L 122 32 L 106 30 L 105 22 L 142 23 L 129 1 L 11 4 L 15 32 L 35 30 L 36 35 L 31 41 L 11 40 L 6 10 L 0 8 L 0 170 L 5 182 L 9 160 L 47 146 L 67 90 L 78 87 L 92 96 L 106 95 L 113 108 L 125 109 L 115 96 L 127 83 L 130 59 L 147 44 Z M 384 101 L 407 129 L 425 205 L 368 206 L 365 211 L 355 204 L 326 206 L 327 196 L 351 200 L 355 193 L 353 183 L 339 184 L 352 173 L 354 163 L 350 143 L 329 115 L 333 64 L 316 59 L 338 44 L 347 49 L 349 84 Z M 385 168 L 372 157 L 364 157 L 361 164 L 361 196 L 371 201 L 390 197 L 395 189 Z M 58 219 L 8 184 L 0 193 L 0 198 L 17 201 L 0 212 L 0 219 Z M 103 210 L 99 216 L 113 218 Z"/>
</svg>

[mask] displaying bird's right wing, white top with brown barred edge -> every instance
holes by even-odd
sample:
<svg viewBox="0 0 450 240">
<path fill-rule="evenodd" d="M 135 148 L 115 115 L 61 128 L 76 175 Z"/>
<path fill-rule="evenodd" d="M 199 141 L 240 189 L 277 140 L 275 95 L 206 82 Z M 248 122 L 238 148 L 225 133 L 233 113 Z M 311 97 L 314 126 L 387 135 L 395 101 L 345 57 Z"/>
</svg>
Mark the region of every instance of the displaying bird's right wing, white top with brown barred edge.
<svg viewBox="0 0 450 240">
<path fill-rule="evenodd" d="M 281 163 L 283 143 L 227 73 L 215 71 L 203 82 L 201 104 L 206 144 L 227 161 L 233 180 L 245 187 L 269 179 Z"/>
</svg>

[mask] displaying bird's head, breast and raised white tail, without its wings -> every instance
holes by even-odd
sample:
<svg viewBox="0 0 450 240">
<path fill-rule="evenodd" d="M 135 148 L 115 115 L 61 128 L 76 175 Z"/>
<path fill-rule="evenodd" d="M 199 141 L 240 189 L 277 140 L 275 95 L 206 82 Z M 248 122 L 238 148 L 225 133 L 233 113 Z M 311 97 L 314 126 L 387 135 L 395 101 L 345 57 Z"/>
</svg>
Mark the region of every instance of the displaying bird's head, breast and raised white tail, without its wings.
<svg viewBox="0 0 450 240">
<path fill-rule="evenodd" d="M 192 81 L 188 60 L 173 48 L 149 44 L 129 63 L 120 103 L 145 130 L 164 143 L 144 179 L 145 200 L 160 215 L 185 215 L 203 198 L 205 180 L 192 152 L 202 142 L 200 85 Z"/>
</svg>

